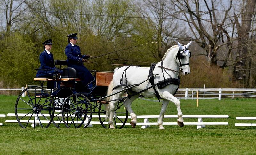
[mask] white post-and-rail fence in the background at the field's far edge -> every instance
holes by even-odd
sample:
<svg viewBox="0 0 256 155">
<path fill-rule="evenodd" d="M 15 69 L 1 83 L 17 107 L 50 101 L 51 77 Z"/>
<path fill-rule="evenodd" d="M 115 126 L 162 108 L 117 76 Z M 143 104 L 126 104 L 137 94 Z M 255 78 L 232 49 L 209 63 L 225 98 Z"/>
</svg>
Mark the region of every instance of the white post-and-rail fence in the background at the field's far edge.
<svg viewBox="0 0 256 155">
<path fill-rule="evenodd" d="M 31 85 L 28 85 L 28 87 Z M 46 89 L 46 86 L 44 86 Z M 0 88 L 1 90 L 24 90 L 22 88 Z M 47 91 L 50 91 L 46 89 Z M 197 97 L 198 95 L 198 97 Z M 245 88 L 180 88 L 176 94 L 179 99 L 219 99 L 236 97 L 256 97 L 256 89 Z M 22 94 L 25 97 L 25 94 Z"/>
</svg>

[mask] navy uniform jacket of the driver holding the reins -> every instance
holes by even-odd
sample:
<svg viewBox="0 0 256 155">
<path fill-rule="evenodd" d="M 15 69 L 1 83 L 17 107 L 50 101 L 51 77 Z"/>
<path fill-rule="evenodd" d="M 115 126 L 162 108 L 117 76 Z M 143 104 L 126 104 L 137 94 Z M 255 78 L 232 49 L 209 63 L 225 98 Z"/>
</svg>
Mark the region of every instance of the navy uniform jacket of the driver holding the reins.
<svg viewBox="0 0 256 155">
<path fill-rule="evenodd" d="M 65 54 L 68 58 L 67 62 L 70 65 L 76 64 L 76 65 L 82 66 L 83 65 L 82 58 L 86 59 L 86 58 L 89 58 L 89 57 L 86 56 L 86 55 L 82 55 L 80 47 L 77 46 L 77 45 L 75 45 L 75 46 L 72 46 L 71 43 L 68 43 L 68 45 L 66 46 Z"/>
</svg>

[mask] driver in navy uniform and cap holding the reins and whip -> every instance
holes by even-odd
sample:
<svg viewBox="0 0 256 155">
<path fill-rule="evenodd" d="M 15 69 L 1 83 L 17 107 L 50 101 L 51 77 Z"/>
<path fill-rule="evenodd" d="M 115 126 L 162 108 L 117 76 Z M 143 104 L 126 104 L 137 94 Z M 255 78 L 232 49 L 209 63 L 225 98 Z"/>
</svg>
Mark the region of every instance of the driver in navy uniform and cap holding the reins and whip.
<svg viewBox="0 0 256 155">
<path fill-rule="evenodd" d="M 82 55 L 80 47 L 76 45 L 77 33 L 68 35 L 68 45 L 65 48 L 65 54 L 67 56 L 68 67 L 72 67 L 76 70 L 77 77 L 81 78 L 82 85 L 85 87 L 88 83 L 94 81 L 94 78 L 90 71 L 84 66 L 83 62 L 88 59 L 90 55 Z M 92 84 L 89 84 L 89 88 Z"/>
</svg>

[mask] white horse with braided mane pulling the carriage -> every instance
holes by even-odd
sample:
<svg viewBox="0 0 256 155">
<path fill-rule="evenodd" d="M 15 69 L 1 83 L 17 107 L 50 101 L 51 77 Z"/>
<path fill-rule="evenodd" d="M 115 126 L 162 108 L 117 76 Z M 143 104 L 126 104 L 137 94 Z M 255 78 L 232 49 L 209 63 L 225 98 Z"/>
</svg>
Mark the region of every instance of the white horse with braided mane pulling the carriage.
<svg viewBox="0 0 256 155">
<path fill-rule="evenodd" d="M 183 75 L 187 75 L 190 73 L 189 57 L 191 56 L 191 53 L 188 50 L 188 47 L 190 46 L 190 44 L 191 44 L 191 41 L 190 41 L 190 43 L 188 43 L 185 46 L 181 45 L 178 42 L 178 45 L 172 46 L 171 48 L 169 48 L 167 50 L 164 57 L 162 58 L 163 67 L 165 67 L 165 71 L 162 70 L 162 68 L 160 67 L 161 62 L 158 62 L 156 64 L 156 67 L 153 71 L 154 75 L 158 74 L 158 75 L 154 76 L 155 84 L 158 81 L 164 80 L 164 77 L 169 78 L 169 75 L 171 75 L 172 78 L 178 79 L 179 69 L 182 70 Z M 121 84 L 128 84 L 128 85 L 138 84 L 148 78 L 149 69 L 150 69 L 149 67 L 137 67 L 137 66 L 130 66 L 129 68 L 127 68 L 127 67 L 129 67 L 129 66 L 124 66 L 124 67 L 115 69 L 114 75 L 113 75 L 113 80 L 111 81 L 110 85 L 108 86 L 107 95 L 116 93 L 116 92 L 124 89 L 124 86 L 120 86 L 120 87 L 117 87 L 116 89 L 112 90 L 113 87 L 120 85 L 121 78 L 123 78 Z M 125 69 L 126 69 L 126 71 L 125 71 L 126 73 L 124 74 Z M 164 74 L 164 77 L 163 77 L 163 74 Z M 125 76 L 127 78 L 127 83 L 126 83 L 126 80 L 124 80 L 124 79 L 126 79 Z M 146 81 L 146 82 L 140 84 L 139 86 L 129 89 L 128 92 L 129 92 L 129 94 L 136 94 L 136 92 L 143 91 L 150 86 L 151 86 L 151 83 L 149 81 Z M 164 129 L 163 118 L 164 118 L 166 107 L 167 107 L 169 101 L 172 101 L 177 107 L 178 117 L 179 117 L 179 119 L 177 119 L 178 125 L 180 127 L 184 126 L 182 112 L 180 109 L 180 101 L 179 101 L 179 99 L 177 99 L 176 97 L 173 96 L 177 87 L 178 86 L 174 85 L 174 84 L 169 84 L 161 89 L 158 89 L 158 87 L 155 86 L 156 91 L 158 92 L 159 96 L 163 99 L 162 108 L 160 111 L 159 118 L 157 120 L 159 129 Z M 123 94 L 124 94 L 124 92 L 120 92 L 120 93 L 117 93 L 108 98 L 108 100 L 110 102 L 108 103 L 109 107 L 106 107 L 106 108 L 109 108 L 108 109 L 108 111 L 109 111 L 109 128 L 115 128 L 114 122 L 113 122 L 113 115 L 114 115 L 115 106 L 118 102 L 118 101 L 111 101 L 111 100 L 121 98 Z M 147 97 L 155 97 L 155 91 L 153 88 L 143 91 L 140 94 L 143 96 L 147 96 Z M 137 123 L 137 116 L 133 112 L 133 110 L 131 108 L 131 104 L 138 96 L 139 96 L 139 94 L 137 94 L 135 96 L 131 96 L 130 98 L 126 98 L 123 103 L 123 105 L 125 106 L 127 111 L 130 113 L 130 116 L 132 119 L 131 126 L 133 128 L 135 128 L 135 125 Z M 108 111 L 107 111 L 107 113 L 108 113 Z"/>
</svg>

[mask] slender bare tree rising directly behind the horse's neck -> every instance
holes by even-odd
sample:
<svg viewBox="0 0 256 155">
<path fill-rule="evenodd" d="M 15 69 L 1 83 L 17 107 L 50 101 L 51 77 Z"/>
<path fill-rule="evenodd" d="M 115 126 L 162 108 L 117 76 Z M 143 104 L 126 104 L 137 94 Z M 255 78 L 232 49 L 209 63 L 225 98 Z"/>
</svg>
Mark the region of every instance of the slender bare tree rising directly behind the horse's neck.
<svg viewBox="0 0 256 155">
<path fill-rule="evenodd" d="M 152 38 L 158 42 L 157 49 L 152 51 L 155 58 L 162 58 L 164 52 L 171 46 L 176 32 L 179 30 L 177 20 L 169 18 L 172 13 L 172 4 L 168 0 L 143 0 L 139 1 L 139 13 L 146 18 L 155 31 L 155 37 Z"/>
</svg>

